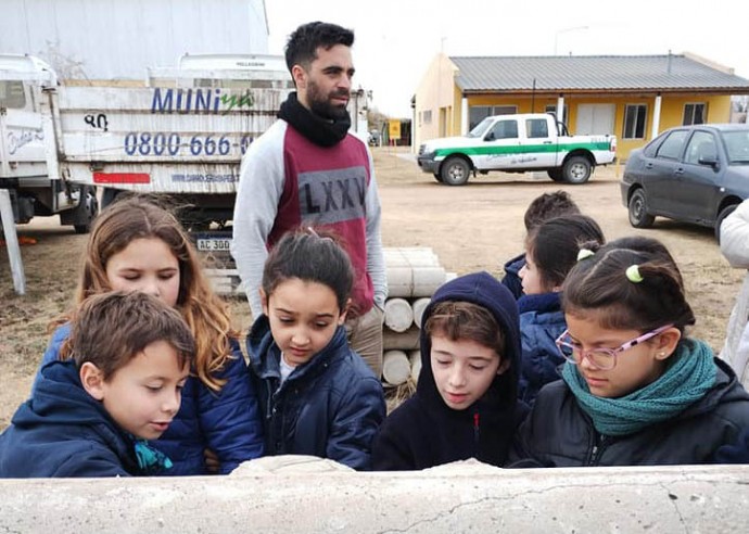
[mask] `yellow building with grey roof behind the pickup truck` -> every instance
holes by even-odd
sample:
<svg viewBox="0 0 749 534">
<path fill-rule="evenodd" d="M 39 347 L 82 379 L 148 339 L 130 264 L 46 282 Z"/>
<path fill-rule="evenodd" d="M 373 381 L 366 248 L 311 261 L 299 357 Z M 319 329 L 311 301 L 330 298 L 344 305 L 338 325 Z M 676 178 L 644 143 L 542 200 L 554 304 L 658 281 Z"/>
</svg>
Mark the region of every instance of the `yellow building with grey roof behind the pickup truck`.
<svg viewBox="0 0 749 534">
<path fill-rule="evenodd" d="M 749 80 L 695 54 L 459 58 L 437 54 L 414 105 L 414 148 L 490 115 L 564 111 L 574 135 L 613 134 L 617 155 L 673 126 L 727 123 Z M 560 117 L 561 118 L 561 117 Z"/>
</svg>

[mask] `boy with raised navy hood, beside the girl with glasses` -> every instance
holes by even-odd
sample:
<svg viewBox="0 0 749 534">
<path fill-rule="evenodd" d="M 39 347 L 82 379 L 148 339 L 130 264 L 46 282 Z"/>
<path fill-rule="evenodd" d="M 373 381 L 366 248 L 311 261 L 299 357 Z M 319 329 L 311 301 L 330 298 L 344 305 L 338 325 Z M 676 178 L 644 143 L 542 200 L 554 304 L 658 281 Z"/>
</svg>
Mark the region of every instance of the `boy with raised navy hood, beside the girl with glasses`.
<svg viewBox="0 0 749 534">
<path fill-rule="evenodd" d="M 417 470 L 477 458 L 502 466 L 526 407 L 517 400 L 515 298 L 475 272 L 442 285 L 423 314 L 416 394 L 374 440 L 376 470 Z"/>
</svg>

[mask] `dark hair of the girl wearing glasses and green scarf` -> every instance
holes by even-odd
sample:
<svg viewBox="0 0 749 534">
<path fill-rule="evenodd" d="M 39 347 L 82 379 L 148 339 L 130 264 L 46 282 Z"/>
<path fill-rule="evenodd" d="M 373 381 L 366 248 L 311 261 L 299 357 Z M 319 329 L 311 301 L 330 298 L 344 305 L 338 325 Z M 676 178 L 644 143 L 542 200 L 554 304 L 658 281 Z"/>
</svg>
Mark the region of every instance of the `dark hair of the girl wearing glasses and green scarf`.
<svg viewBox="0 0 749 534">
<path fill-rule="evenodd" d="M 671 323 L 684 333 L 684 327 L 695 323 L 682 274 L 661 243 L 625 238 L 601 247 L 592 244 L 591 250 L 594 255 L 577 262 L 564 280 L 564 313 L 596 312 L 599 323 L 614 330 L 647 332 Z M 639 282 L 627 277 L 633 265 Z"/>
</svg>

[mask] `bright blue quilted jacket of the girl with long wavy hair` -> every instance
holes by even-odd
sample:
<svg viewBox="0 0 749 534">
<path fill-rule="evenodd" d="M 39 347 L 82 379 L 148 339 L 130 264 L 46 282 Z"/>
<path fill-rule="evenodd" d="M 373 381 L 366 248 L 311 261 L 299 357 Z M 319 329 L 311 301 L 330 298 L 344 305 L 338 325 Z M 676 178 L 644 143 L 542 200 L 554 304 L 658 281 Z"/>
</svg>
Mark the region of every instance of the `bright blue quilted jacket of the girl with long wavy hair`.
<svg viewBox="0 0 749 534">
<path fill-rule="evenodd" d="M 52 334 L 40 368 L 58 359 L 60 346 L 71 332 L 63 325 Z M 220 391 L 214 392 L 201 380 L 190 376 L 182 390 L 182 404 L 169 428 L 153 446 L 169 457 L 174 467 L 163 474 L 169 476 L 206 474 L 204 450 L 213 450 L 220 462 L 219 473 L 230 473 L 239 463 L 263 455 L 263 423 L 257 396 L 239 344 L 232 340 L 232 358 L 216 373 L 225 379 Z M 39 383 L 37 376 L 31 395 Z"/>
</svg>

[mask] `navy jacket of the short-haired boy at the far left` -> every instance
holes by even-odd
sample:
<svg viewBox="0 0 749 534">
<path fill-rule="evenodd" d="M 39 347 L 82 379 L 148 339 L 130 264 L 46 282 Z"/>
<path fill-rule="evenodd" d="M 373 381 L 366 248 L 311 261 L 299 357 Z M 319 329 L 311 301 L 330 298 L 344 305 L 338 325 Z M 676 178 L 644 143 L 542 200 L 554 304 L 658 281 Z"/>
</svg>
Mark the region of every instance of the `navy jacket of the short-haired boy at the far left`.
<svg viewBox="0 0 749 534">
<path fill-rule="evenodd" d="M 84 390 L 75 363 L 45 366 L 34 395 L 0 435 L 0 478 L 135 474 L 132 438 Z"/>
</svg>

